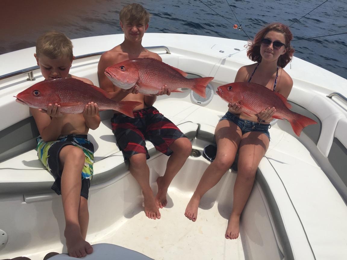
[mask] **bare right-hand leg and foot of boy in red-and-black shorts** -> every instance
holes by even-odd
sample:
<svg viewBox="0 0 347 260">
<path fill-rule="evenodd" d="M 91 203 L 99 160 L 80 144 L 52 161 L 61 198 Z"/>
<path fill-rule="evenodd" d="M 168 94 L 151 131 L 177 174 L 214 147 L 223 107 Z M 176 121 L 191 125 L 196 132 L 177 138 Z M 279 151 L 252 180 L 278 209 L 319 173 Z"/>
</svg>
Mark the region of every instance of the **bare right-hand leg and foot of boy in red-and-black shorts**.
<svg viewBox="0 0 347 260">
<path fill-rule="evenodd" d="M 191 154 L 192 143 L 188 138 L 178 138 L 170 145 L 170 149 L 173 153 L 170 155 L 166 164 L 164 176 L 160 176 L 156 180 L 158 184 L 158 193 L 155 196 L 155 201 L 160 208 L 165 207 L 168 203 L 166 194 L 169 185 L 186 162 L 189 154 Z"/>
</svg>

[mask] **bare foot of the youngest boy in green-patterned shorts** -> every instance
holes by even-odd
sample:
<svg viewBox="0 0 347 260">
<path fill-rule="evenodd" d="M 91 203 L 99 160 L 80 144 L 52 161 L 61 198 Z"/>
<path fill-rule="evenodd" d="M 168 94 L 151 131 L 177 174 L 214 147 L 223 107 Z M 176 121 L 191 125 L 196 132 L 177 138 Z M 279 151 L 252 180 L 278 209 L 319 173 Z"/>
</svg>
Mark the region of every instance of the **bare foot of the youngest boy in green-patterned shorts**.
<svg viewBox="0 0 347 260">
<path fill-rule="evenodd" d="M 93 252 L 92 246 L 83 239 L 78 226 L 66 226 L 64 235 L 70 257 L 85 257 Z"/>
</svg>

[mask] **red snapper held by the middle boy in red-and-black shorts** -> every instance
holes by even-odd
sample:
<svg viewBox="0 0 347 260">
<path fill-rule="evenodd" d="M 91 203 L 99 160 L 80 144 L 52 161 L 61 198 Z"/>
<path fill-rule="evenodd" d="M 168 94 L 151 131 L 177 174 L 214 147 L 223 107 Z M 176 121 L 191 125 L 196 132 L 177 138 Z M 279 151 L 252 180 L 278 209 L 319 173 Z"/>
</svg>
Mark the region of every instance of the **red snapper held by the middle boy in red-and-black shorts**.
<svg viewBox="0 0 347 260">
<path fill-rule="evenodd" d="M 206 98 L 206 86 L 213 77 L 188 79 L 186 72 L 152 58 L 122 61 L 105 69 L 105 75 L 114 85 L 123 89 L 138 87 L 144 95 L 157 94 L 163 86 L 171 92 L 183 92 L 178 88 L 189 88 Z"/>
</svg>

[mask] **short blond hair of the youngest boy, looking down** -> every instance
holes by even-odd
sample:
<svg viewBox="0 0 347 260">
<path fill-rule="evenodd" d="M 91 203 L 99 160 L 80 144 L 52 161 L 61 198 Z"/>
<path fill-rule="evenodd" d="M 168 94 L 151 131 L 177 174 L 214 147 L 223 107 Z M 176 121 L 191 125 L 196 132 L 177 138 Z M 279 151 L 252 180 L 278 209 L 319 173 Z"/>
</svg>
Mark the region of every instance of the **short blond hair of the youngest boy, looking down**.
<svg viewBox="0 0 347 260">
<path fill-rule="evenodd" d="M 36 56 L 45 55 L 50 59 L 59 57 L 73 58 L 72 42 L 64 33 L 51 31 L 40 36 L 36 41 Z"/>
</svg>

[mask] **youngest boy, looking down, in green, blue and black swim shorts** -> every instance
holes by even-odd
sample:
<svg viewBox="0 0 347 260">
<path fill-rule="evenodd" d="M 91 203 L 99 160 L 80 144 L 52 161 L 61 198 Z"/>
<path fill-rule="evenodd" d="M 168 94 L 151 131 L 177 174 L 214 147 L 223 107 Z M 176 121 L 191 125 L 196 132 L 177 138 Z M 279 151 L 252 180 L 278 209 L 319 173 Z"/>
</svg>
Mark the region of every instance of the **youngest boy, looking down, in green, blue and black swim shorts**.
<svg viewBox="0 0 347 260">
<path fill-rule="evenodd" d="M 76 78 L 93 85 L 86 78 L 69 74 L 75 58 L 72 47 L 69 38 L 62 33 L 49 32 L 42 35 L 36 42 L 34 54 L 42 76 L 45 80 Z M 89 221 L 88 189 L 93 175 L 94 154 L 87 133 L 100 124 L 98 105 L 93 102 L 86 104 L 81 114 L 63 114 L 59 104 L 49 104 L 47 110 L 30 108 L 30 112 L 40 132 L 37 155 L 56 179 L 52 189 L 61 194 L 68 254 L 71 257 L 84 257 L 93 251 L 85 241 Z"/>
</svg>

